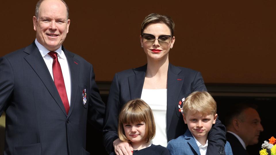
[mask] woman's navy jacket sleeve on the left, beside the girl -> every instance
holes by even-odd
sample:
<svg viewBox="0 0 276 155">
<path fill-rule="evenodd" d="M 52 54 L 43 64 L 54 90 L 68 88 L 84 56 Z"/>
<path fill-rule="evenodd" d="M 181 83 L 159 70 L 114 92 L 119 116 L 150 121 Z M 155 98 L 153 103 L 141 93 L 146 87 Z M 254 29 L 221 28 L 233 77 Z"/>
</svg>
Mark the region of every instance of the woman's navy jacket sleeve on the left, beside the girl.
<svg viewBox="0 0 276 155">
<path fill-rule="evenodd" d="M 118 114 L 120 112 L 119 101 L 120 88 L 117 73 L 115 74 L 106 104 L 106 117 L 104 121 L 104 145 L 107 152 L 113 152 L 113 141 L 118 138 Z"/>
</svg>

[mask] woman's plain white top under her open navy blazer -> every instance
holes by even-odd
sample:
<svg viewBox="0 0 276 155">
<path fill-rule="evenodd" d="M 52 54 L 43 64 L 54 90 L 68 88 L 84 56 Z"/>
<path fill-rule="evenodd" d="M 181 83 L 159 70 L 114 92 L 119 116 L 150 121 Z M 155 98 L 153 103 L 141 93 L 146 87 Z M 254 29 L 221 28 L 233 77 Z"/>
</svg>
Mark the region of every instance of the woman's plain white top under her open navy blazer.
<svg viewBox="0 0 276 155">
<path fill-rule="evenodd" d="M 143 89 L 141 99 L 150 106 L 155 120 L 156 133 L 151 143 L 167 147 L 167 89 Z"/>
</svg>

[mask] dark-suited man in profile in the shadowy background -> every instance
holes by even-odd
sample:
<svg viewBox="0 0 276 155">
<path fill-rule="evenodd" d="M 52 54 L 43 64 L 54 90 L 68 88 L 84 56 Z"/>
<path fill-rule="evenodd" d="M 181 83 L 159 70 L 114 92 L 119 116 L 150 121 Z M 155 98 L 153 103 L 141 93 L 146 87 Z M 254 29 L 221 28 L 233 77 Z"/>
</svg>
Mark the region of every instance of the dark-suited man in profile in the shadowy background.
<svg viewBox="0 0 276 155">
<path fill-rule="evenodd" d="M 263 131 L 256 105 L 234 104 L 225 118 L 226 139 L 232 147 L 233 154 L 248 154 L 248 145 L 258 144 L 260 132 Z"/>
</svg>

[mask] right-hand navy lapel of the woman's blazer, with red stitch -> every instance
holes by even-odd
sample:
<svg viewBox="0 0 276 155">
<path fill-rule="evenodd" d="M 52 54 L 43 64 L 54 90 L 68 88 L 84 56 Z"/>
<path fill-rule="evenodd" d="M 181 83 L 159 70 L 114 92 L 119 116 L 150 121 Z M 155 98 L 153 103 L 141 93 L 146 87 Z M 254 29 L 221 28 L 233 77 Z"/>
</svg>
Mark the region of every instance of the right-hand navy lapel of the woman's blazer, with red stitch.
<svg viewBox="0 0 276 155">
<path fill-rule="evenodd" d="M 167 132 L 170 128 L 171 119 L 175 112 L 178 96 L 181 91 L 184 76 L 178 75 L 182 70 L 169 63 L 167 78 Z"/>
</svg>

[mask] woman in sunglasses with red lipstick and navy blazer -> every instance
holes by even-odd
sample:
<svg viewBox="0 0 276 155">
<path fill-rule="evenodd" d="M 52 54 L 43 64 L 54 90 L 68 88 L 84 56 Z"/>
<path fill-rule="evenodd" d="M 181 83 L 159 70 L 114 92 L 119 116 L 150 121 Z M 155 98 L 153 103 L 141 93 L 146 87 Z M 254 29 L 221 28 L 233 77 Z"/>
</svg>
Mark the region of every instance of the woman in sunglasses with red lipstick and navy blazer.
<svg viewBox="0 0 276 155">
<path fill-rule="evenodd" d="M 169 51 L 175 43 L 175 24 L 165 15 L 148 15 L 141 28 L 141 47 L 147 64 L 116 73 L 106 105 L 104 143 L 108 152 L 131 155 L 129 143 L 118 139 L 118 113 L 121 107 L 136 98 L 150 105 L 156 122 L 154 145 L 167 146 L 167 142 L 183 135 L 187 129 L 181 115 L 182 102 L 191 92 L 206 91 L 202 75 L 192 69 L 169 63 Z M 208 154 L 225 154 L 225 127 L 217 119 L 208 136 Z M 139 134 L 133 131 L 133 134 Z M 181 145 L 181 144 L 180 144 Z"/>
</svg>

